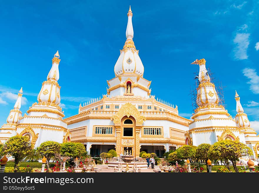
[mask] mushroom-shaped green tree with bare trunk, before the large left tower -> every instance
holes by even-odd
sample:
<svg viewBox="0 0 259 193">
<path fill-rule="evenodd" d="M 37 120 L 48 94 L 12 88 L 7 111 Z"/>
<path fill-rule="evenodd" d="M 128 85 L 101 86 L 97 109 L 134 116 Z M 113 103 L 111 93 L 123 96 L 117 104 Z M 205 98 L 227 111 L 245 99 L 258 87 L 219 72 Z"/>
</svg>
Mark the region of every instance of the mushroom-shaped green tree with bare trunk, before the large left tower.
<svg viewBox="0 0 259 193">
<path fill-rule="evenodd" d="M 37 148 L 37 152 L 47 159 L 47 172 L 49 172 L 49 160 L 60 152 L 60 143 L 56 141 L 45 141 Z"/>
</svg>

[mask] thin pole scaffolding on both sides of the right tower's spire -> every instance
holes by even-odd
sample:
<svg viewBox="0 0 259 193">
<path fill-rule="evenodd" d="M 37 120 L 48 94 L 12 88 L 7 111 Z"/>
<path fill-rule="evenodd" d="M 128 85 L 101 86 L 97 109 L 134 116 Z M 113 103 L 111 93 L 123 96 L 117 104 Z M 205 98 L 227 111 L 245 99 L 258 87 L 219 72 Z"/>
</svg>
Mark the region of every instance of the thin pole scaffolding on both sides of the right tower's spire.
<svg viewBox="0 0 259 193">
<path fill-rule="evenodd" d="M 215 90 L 218 93 L 218 105 L 222 105 L 225 109 L 226 109 L 226 105 L 225 105 L 225 100 L 224 100 L 224 92 L 223 92 L 223 86 L 222 83 L 219 79 L 216 79 L 213 77 L 213 74 L 210 71 L 210 68 L 207 68 L 208 74 L 210 76 L 210 82 L 213 83 L 215 85 Z M 199 71 L 197 69 L 196 72 L 194 72 L 194 78 L 193 80 L 195 80 L 195 84 L 193 84 L 192 86 L 190 86 L 190 94 L 191 95 L 191 101 L 192 101 L 192 111 L 193 113 L 195 113 L 195 109 L 198 108 L 199 106 L 197 105 L 196 99 L 197 99 L 197 88 L 199 86 L 199 80 L 198 77 L 199 76 Z M 225 88 L 225 86 L 224 86 Z M 203 93 L 202 95 L 204 95 L 205 93 Z"/>
</svg>

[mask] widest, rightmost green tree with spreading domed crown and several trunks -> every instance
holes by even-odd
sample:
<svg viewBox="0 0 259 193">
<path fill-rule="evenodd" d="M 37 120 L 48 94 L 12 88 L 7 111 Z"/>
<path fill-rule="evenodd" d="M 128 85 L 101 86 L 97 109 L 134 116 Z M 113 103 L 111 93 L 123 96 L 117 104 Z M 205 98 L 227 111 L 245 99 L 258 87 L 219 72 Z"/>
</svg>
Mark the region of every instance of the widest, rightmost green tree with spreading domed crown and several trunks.
<svg viewBox="0 0 259 193">
<path fill-rule="evenodd" d="M 232 140 L 223 140 L 215 142 L 209 149 L 209 157 L 212 159 L 223 160 L 225 166 L 230 171 L 229 160 L 232 162 L 232 165 L 235 169 L 235 172 L 238 172 L 236 161 L 239 160 L 242 156 L 252 155 L 251 149 L 246 146 L 244 143 L 239 141 Z"/>
</svg>

